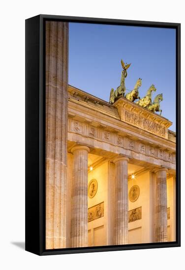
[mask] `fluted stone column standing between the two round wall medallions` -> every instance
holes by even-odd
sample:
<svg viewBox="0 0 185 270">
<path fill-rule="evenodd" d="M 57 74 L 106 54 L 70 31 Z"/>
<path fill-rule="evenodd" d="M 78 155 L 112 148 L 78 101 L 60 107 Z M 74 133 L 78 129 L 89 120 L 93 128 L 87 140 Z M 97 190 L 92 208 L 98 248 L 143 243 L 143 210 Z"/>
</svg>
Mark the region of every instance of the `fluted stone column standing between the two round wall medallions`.
<svg viewBox="0 0 185 270">
<path fill-rule="evenodd" d="M 128 243 L 128 158 L 114 160 L 116 165 L 115 244 Z"/>
</svg>

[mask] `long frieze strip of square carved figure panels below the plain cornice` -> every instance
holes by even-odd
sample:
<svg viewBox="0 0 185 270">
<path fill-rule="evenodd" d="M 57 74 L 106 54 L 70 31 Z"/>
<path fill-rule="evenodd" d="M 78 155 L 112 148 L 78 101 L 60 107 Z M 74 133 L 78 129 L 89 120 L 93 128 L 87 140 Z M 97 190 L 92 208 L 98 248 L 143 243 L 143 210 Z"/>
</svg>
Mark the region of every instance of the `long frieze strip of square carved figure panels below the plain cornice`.
<svg viewBox="0 0 185 270">
<path fill-rule="evenodd" d="M 126 136 L 117 134 L 116 132 L 110 132 L 106 127 L 103 126 L 94 127 L 88 124 L 87 121 L 79 122 L 71 117 L 68 118 L 68 131 L 108 142 L 136 153 L 154 157 L 166 162 L 176 162 L 176 153 L 170 153 L 167 150 L 154 148 L 154 146 L 151 144 L 145 144 L 143 142 L 135 141 L 130 137 L 128 138 Z"/>
</svg>

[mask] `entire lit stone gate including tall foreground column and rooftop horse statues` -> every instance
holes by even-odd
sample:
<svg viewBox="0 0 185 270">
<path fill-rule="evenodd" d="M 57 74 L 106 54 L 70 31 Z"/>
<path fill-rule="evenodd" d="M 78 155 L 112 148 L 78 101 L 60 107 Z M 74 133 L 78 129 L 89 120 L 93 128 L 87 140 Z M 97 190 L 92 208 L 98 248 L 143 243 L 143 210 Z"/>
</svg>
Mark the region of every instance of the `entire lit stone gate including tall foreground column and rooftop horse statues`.
<svg viewBox="0 0 185 270">
<path fill-rule="evenodd" d="M 46 24 L 46 248 L 175 241 L 176 134 L 156 113 L 162 94 L 152 102 L 151 85 L 140 99 L 140 78 L 126 94 L 123 61 L 110 102 L 68 85 L 68 25 L 56 23 Z"/>
</svg>

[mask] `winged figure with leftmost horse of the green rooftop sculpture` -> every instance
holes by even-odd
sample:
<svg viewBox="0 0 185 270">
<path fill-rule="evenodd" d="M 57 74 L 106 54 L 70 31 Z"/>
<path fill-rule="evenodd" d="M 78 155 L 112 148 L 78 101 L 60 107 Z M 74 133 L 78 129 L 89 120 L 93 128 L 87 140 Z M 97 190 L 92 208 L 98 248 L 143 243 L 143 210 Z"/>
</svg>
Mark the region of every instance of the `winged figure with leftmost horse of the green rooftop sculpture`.
<svg viewBox="0 0 185 270">
<path fill-rule="evenodd" d="M 125 78 L 127 76 L 127 71 L 126 70 L 129 68 L 131 63 L 130 64 L 127 64 L 127 63 L 124 64 L 123 60 L 121 60 L 121 63 L 122 63 L 122 67 L 123 67 L 122 76 L 121 76 L 121 82 L 120 82 L 120 85 L 117 87 L 117 89 L 115 91 L 114 91 L 114 88 L 111 89 L 110 100 L 109 100 L 109 102 L 111 104 L 113 104 L 120 97 L 124 97 L 124 93 L 126 91 L 124 80 L 125 80 Z"/>
</svg>

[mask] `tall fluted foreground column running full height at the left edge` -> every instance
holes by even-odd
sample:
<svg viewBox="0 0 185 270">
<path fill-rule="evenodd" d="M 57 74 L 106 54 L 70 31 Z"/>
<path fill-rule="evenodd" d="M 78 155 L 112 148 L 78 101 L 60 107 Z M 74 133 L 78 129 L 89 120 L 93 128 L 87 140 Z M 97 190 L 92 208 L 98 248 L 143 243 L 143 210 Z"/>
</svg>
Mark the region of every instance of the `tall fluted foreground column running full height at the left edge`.
<svg viewBox="0 0 185 270">
<path fill-rule="evenodd" d="M 65 247 L 68 23 L 46 21 L 46 249 Z"/>
</svg>

